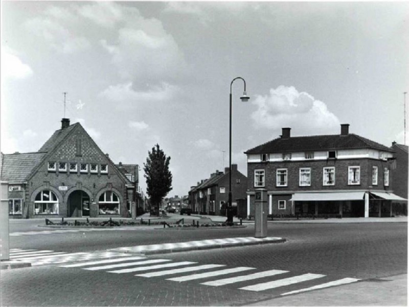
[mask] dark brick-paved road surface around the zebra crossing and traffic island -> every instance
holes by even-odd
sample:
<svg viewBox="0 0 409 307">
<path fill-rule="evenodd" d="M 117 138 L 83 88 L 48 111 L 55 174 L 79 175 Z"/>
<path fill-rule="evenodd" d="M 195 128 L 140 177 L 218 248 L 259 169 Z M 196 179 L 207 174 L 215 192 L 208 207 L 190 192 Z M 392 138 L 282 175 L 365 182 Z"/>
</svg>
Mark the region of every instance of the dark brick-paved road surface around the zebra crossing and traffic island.
<svg viewBox="0 0 409 307">
<path fill-rule="evenodd" d="M 21 229 L 11 222 L 11 232 Z M 31 221 L 30 221 L 31 223 Z M 48 231 L 24 224 L 25 231 Z M 254 226 L 234 229 L 107 230 L 12 236 L 11 248 L 94 251 L 156 243 L 185 242 L 254 235 Z M 53 229 L 52 229 L 53 230 Z M 55 230 L 55 229 L 54 229 Z M 20 230 L 20 232 L 23 232 Z M 269 223 L 268 236 L 286 243 L 150 255 L 149 260 L 218 264 L 255 271 L 283 270 L 288 276 L 323 275 L 322 280 L 359 278 L 379 283 L 407 273 L 407 223 Z M 142 277 L 44 265 L 2 271 L 2 305 L 246 305 L 280 294 L 239 289 L 239 284 L 211 287 L 201 282 L 175 282 L 169 277 Z M 268 280 L 264 277 L 262 281 Z M 308 286 L 307 283 L 306 286 Z M 312 284 L 311 284 L 312 285 Z M 297 285 L 286 291 L 297 290 Z M 336 287 L 333 288 L 336 291 Z"/>
</svg>

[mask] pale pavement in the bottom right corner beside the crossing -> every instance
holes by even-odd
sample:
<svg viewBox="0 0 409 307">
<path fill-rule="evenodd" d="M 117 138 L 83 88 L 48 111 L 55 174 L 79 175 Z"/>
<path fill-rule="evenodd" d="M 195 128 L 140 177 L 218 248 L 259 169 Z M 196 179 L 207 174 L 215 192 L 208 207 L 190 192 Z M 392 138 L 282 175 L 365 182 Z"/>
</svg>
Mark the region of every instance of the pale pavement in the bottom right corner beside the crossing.
<svg viewBox="0 0 409 307">
<path fill-rule="evenodd" d="M 246 306 L 407 306 L 407 274 L 309 291 Z"/>
</svg>

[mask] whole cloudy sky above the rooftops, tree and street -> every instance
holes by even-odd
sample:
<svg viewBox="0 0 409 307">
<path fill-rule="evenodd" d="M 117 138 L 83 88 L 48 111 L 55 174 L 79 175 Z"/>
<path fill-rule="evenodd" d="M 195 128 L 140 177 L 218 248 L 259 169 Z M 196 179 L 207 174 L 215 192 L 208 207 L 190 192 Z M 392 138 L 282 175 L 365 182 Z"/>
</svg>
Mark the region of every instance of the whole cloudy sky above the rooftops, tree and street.
<svg viewBox="0 0 409 307">
<path fill-rule="evenodd" d="M 282 127 L 329 135 L 349 123 L 407 145 L 408 12 L 408 2 L 2 1 L 1 151 L 37 151 L 65 116 L 116 164 L 139 164 L 144 191 L 159 144 L 168 197 L 187 195 L 229 166 L 236 77 L 250 97 L 235 80 L 232 163 L 244 175 L 244 151 Z"/>
</svg>

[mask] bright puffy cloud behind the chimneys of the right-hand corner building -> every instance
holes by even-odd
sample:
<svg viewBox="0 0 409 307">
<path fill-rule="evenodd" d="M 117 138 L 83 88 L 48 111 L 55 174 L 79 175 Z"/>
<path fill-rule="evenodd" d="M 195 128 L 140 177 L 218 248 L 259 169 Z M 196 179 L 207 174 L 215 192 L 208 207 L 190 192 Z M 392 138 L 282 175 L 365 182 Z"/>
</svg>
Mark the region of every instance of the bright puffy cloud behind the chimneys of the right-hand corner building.
<svg viewBox="0 0 409 307">
<path fill-rule="evenodd" d="M 257 106 L 251 116 L 256 129 L 292 127 L 307 135 L 322 134 L 322 131 L 335 132 L 339 127 L 338 118 L 328 110 L 325 103 L 292 86 L 270 89 L 268 95 L 256 96 L 253 105 Z"/>
</svg>

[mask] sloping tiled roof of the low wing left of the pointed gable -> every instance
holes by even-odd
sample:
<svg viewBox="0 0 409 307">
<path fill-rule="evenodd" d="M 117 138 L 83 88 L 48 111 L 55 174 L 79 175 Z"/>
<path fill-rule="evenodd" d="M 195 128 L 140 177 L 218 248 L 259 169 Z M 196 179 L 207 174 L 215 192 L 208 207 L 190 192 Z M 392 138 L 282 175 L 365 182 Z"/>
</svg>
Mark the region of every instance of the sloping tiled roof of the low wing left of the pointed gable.
<svg viewBox="0 0 409 307">
<path fill-rule="evenodd" d="M 9 183 L 24 183 L 46 152 L 27 152 L 25 154 L 2 154 L 1 178 Z"/>
</svg>

